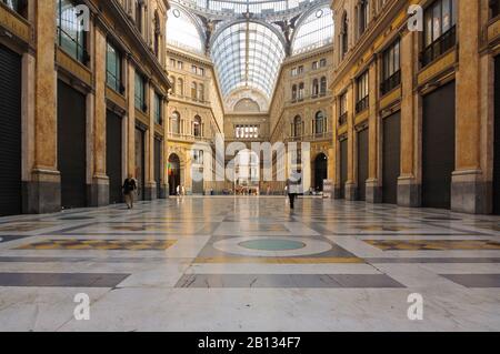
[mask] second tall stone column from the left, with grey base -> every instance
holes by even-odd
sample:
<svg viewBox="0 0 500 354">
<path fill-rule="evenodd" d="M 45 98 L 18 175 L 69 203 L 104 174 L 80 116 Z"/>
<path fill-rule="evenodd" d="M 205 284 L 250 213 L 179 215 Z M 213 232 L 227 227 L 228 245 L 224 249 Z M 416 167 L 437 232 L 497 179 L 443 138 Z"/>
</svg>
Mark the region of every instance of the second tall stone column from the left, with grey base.
<svg viewBox="0 0 500 354">
<path fill-rule="evenodd" d="M 93 120 L 91 148 L 92 156 L 92 182 L 90 185 L 90 205 L 102 206 L 109 204 L 109 178 L 106 171 L 106 33 L 99 27 L 94 28 L 94 85 L 91 95 L 92 109 L 88 110 Z"/>
</svg>

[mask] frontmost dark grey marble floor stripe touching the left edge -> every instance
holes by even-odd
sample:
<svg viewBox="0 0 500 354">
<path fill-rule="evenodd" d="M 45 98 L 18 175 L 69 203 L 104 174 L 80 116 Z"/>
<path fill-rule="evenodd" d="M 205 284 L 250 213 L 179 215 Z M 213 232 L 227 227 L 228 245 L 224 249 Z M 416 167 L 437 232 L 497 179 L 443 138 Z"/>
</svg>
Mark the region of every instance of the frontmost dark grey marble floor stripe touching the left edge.
<svg viewBox="0 0 500 354">
<path fill-rule="evenodd" d="M 0 273 L 0 286 L 114 287 L 129 275 L 107 273 Z"/>
</svg>

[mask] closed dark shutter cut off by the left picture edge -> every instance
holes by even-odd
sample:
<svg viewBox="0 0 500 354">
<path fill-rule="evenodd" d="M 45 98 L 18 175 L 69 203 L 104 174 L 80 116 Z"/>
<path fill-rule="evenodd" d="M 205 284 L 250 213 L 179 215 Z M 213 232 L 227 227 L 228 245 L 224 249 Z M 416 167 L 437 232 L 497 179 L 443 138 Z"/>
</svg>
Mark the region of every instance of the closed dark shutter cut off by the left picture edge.
<svg viewBox="0 0 500 354">
<path fill-rule="evenodd" d="M 22 212 L 21 58 L 0 45 L 0 216 Z"/>
</svg>

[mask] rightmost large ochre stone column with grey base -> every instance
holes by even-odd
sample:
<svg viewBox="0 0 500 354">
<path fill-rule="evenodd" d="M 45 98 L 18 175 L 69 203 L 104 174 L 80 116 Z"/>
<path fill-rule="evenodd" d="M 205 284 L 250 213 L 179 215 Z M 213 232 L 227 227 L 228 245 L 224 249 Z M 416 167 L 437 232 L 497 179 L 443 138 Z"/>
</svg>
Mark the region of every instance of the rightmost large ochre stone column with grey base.
<svg viewBox="0 0 500 354">
<path fill-rule="evenodd" d="M 488 189 L 481 165 L 480 1 L 457 1 L 459 69 L 457 71 L 456 171 L 451 210 L 488 213 Z"/>
</svg>

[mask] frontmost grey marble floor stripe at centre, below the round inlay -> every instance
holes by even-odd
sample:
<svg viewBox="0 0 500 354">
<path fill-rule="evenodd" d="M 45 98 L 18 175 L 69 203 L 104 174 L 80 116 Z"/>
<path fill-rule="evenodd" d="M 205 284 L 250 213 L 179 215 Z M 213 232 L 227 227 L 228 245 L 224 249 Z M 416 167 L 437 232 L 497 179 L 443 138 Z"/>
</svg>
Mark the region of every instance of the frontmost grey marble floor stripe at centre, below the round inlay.
<svg viewBox="0 0 500 354">
<path fill-rule="evenodd" d="M 386 274 L 187 274 L 176 287 L 402 289 Z"/>
</svg>

